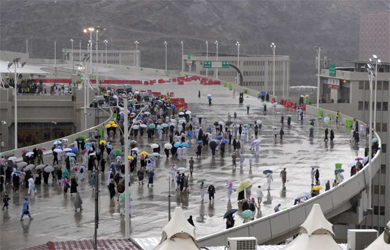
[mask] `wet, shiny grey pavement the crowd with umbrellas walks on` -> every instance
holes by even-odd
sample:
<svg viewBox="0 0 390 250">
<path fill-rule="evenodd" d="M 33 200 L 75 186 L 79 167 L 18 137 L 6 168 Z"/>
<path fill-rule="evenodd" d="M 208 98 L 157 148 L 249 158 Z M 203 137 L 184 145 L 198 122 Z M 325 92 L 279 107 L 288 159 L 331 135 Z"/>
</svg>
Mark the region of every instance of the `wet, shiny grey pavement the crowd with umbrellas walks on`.
<svg viewBox="0 0 390 250">
<path fill-rule="evenodd" d="M 294 110 L 287 110 L 283 106 L 277 106 L 277 113 L 272 113 L 272 104 L 267 103 L 267 115 L 263 115 L 263 106 L 261 101 L 255 97 L 244 95 L 244 105 L 238 105 L 238 94 L 235 99 L 232 92 L 219 85 L 200 85 L 199 83 L 185 83 L 177 85 L 174 83 L 156 84 L 153 86 L 134 85 L 135 89 L 153 90 L 166 93 L 175 92 L 175 97 L 185 97 L 189 103 L 189 110 L 192 115 L 204 115 L 208 119 L 208 124 L 213 122 L 226 121 L 228 113 L 233 116 L 237 112 L 237 122 L 240 124 L 253 124 L 254 119 L 263 121 L 263 128 L 258 135 L 260 142 L 260 156 L 253 160 L 253 167 L 249 169 L 249 144 L 244 146 L 244 167 L 240 170 L 239 160 L 237 160 L 237 169 L 232 170 L 231 153 L 233 146 L 226 147 L 226 156 L 221 158 L 217 153 L 215 157 L 211 156 L 210 150 L 203 147 L 202 158 L 195 160 L 194 175 L 189 178 L 189 194 L 181 194 L 175 191 L 174 182 L 169 183 L 169 169 L 172 164 L 178 167 L 189 169 L 188 160 L 179 162 L 176 159 L 166 159 L 162 156 L 157 160 L 155 169 L 155 184 L 153 188 L 147 185 L 139 187 L 137 176 L 132 176 L 132 217 L 131 235 L 134 238 L 147 238 L 150 236 L 161 236 L 161 228 L 168 222 L 168 195 L 169 185 L 171 186 L 171 206 L 172 211 L 175 206 L 182 206 L 185 215 L 192 215 L 196 226 L 196 236 L 208 235 L 221 231 L 226 227 L 222 219 L 226 210 L 238 208 L 237 193 L 233 192 L 231 202 L 228 202 L 226 194 L 226 181 L 231 179 L 234 188 L 241 181 L 251 181 L 253 188 L 252 197 L 256 197 L 257 186 L 261 185 L 265 197 L 261 209 L 256 213 L 257 217 L 270 215 L 277 203 L 281 203 L 281 208 L 292 206 L 295 197 L 302 192 L 311 190 L 311 165 L 320 165 L 320 182 L 325 188 L 327 180 L 334 179 L 334 164 L 343 163 L 345 169 L 344 176 L 348 178 L 349 167 L 347 164 L 357 156 L 364 156 L 364 144 L 366 140 L 361 140 L 358 146 L 351 145 L 349 142 L 350 131 L 345 130 L 345 126 L 324 124 L 322 121 L 315 121 L 315 131 L 313 140 L 309 140 L 309 119 L 316 118 L 310 115 L 304 116 L 304 121 L 298 123 L 297 115 Z M 198 90 L 201 90 L 201 98 L 198 98 Z M 212 94 L 212 106 L 208 105 L 207 94 Z M 247 114 L 247 104 L 251 103 L 249 115 Z M 285 117 L 292 115 L 292 124 L 287 126 L 287 117 L 283 131 L 283 141 L 274 140 L 272 126 L 276 126 L 278 131 L 281 128 L 281 114 Z M 256 117 L 256 118 L 255 118 Z M 324 142 L 324 131 L 328 127 L 334 129 L 334 142 Z M 212 132 L 215 134 L 214 126 Z M 330 134 L 329 134 L 330 135 Z M 150 144 L 158 142 L 158 138 L 148 139 L 146 134 L 143 138 L 139 136 L 138 148 L 151 152 Z M 160 144 L 166 143 L 169 138 L 164 138 Z M 118 148 L 118 138 L 114 143 L 114 148 Z M 188 156 L 195 156 L 196 140 L 189 143 Z M 162 151 L 163 153 L 163 151 Z M 52 156 L 45 157 L 47 163 L 52 162 Z M 63 163 L 63 166 L 65 164 Z M 138 164 L 139 167 L 139 164 Z M 286 189 L 282 189 L 281 177 L 279 173 L 283 167 L 287 169 Z M 120 203 L 109 199 L 107 185 L 107 169 L 100 178 L 100 225 L 98 229 L 99 238 L 123 238 L 125 233 L 125 217 L 120 216 Z M 272 169 L 274 172 L 274 181 L 271 190 L 267 192 L 267 181 L 263 170 Z M 189 174 L 189 171 L 185 172 Z M 86 174 L 87 176 L 87 174 Z M 205 178 L 206 185 L 212 183 L 216 188 L 215 200 L 210 203 L 208 194 L 205 194 L 205 202 L 201 203 L 198 179 Z M 24 217 L 20 222 L 20 213 L 22 211 L 22 202 L 26 196 L 27 190 L 22 188 L 19 194 L 13 194 L 10 186 L 7 186 L 10 194 L 10 208 L 1 211 L 1 249 L 22 249 L 47 241 L 77 240 L 84 238 L 93 238 L 94 233 L 94 192 L 90 187 L 90 178 L 85 181 L 78 181 L 78 190 L 83 199 L 84 210 L 76 212 L 74 210 L 75 197 L 63 196 L 63 188 L 49 180 L 49 185 L 40 185 L 37 187 L 36 194 L 29 195 L 29 206 L 33 221 Z M 146 178 L 147 179 L 147 178 Z M 146 181 L 147 182 L 147 181 Z M 323 190 L 322 190 L 323 192 Z M 242 224 L 243 219 L 239 213 L 235 214 L 236 225 Z"/>
</svg>

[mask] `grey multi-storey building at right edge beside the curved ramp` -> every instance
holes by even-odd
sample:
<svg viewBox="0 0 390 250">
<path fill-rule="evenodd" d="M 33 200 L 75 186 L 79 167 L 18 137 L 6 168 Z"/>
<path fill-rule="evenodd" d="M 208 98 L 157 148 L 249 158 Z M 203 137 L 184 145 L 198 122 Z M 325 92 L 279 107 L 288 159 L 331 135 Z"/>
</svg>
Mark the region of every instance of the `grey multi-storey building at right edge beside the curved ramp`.
<svg viewBox="0 0 390 250">
<path fill-rule="evenodd" d="M 350 68 L 336 68 L 335 76 L 329 75 L 329 69 L 321 69 L 320 93 L 329 92 L 329 97 L 338 101 L 320 103 L 320 108 L 338 110 L 345 115 L 358 117 L 369 124 L 370 83 L 366 66 L 368 62 L 350 61 L 350 63 L 353 65 Z M 377 112 L 376 121 L 373 120 L 372 126 L 382 139 L 382 164 L 380 171 L 373 178 L 373 210 L 368 213 L 364 223 L 369 228 L 373 226 L 373 228 L 383 231 L 384 226 L 390 220 L 390 153 L 387 152 L 387 144 L 390 142 L 389 63 L 382 64 L 377 73 L 376 81 L 376 89 L 375 80 L 373 81 L 373 107 L 375 106 L 376 93 Z M 358 147 L 364 147 L 364 144 L 359 144 Z"/>
</svg>

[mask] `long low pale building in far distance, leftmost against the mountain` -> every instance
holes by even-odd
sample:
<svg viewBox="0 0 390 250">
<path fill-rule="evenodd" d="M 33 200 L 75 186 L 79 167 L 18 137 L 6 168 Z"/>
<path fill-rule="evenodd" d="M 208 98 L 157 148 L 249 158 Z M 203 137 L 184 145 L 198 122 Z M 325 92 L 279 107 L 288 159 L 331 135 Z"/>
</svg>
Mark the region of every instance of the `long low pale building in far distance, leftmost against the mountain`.
<svg viewBox="0 0 390 250">
<path fill-rule="evenodd" d="M 88 53 L 86 49 L 73 49 L 73 60 L 75 62 L 82 61 L 84 56 Z M 63 62 L 70 62 L 72 60 L 72 50 L 71 49 L 62 49 L 62 58 Z M 141 51 L 139 50 L 98 50 L 98 55 L 96 55 L 96 50 L 92 50 L 92 63 L 104 63 L 104 64 L 114 64 L 114 65 L 127 65 L 140 67 L 141 65 Z M 106 62 L 107 60 L 107 62 Z"/>
</svg>

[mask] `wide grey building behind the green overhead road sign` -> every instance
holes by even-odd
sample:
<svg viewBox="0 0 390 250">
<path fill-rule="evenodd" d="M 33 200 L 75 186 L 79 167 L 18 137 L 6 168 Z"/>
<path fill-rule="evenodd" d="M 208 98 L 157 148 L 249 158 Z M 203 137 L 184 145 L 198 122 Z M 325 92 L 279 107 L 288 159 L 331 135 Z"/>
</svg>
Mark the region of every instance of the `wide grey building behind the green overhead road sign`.
<svg viewBox="0 0 390 250">
<path fill-rule="evenodd" d="M 237 76 L 237 71 L 233 67 L 226 69 L 205 69 L 203 62 L 206 60 L 216 61 L 216 55 L 209 53 L 202 53 L 200 56 L 186 55 L 183 57 L 185 61 L 185 72 L 195 72 L 203 76 L 210 76 L 218 78 L 221 81 L 231 83 L 239 83 L 240 78 Z M 218 55 L 218 61 L 228 61 L 236 65 L 242 72 L 244 87 L 272 92 L 273 84 L 273 56 L 242 56 L 240 55 L 239 64 L 237 65 L 237 56 L 233 55 Z M 218 72 L 218 73 L 217 73 Z M 218 75 L 217 75 L 218 74 Z M 238 78 L 238 80 L 237 80 Z M 275 94 L 279 97 L 288 97 L 288 90 L 290 88 L 290 58 L 288 56 L 275 56 Z"/>
</svg>

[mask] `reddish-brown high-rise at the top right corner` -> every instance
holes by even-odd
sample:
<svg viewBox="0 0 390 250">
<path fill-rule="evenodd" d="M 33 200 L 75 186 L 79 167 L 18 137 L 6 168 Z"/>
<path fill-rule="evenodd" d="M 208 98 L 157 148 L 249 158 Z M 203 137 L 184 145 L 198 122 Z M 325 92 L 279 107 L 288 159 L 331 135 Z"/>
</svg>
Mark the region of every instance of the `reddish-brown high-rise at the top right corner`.
<svg viewBox="0 0 390 250">
<path fill-rule="evenodd" d="M 359 35 L 359 60 L 368 61 L 377 55 L 384 63 L 390 63 L 390 12 L 361 15 Z"/>
</svg>

